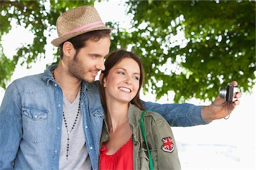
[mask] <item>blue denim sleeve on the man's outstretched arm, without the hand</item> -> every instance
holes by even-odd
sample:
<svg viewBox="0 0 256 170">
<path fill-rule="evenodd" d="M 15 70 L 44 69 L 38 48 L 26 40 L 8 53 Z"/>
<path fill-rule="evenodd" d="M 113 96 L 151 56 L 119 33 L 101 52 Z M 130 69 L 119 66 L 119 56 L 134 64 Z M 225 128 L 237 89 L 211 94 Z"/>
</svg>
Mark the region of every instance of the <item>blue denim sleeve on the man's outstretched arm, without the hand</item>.
<svg viewBox="0 0 256 170">
<path fill-rule="evenodd" d="M 193 104 L 158 104 L 142 101 L 144 107 L 150 111 L 161 114 L 171 126 L 205 125 L 201 116 L 201 108 Z"/>
</svg>

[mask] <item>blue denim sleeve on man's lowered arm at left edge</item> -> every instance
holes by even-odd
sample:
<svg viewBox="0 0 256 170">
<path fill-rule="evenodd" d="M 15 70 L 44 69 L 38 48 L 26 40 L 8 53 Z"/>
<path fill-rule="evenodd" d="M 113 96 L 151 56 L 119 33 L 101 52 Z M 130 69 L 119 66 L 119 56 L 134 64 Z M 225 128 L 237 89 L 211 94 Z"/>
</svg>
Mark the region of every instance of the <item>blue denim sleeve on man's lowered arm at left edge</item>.
<svg viewBox="0 0 256 170">
<path fill-rule="evenodd" d="M 20 94 L 11 83 L 0 107 L 0 169 L 13 169 L 22 138 Z"/>
</svg>

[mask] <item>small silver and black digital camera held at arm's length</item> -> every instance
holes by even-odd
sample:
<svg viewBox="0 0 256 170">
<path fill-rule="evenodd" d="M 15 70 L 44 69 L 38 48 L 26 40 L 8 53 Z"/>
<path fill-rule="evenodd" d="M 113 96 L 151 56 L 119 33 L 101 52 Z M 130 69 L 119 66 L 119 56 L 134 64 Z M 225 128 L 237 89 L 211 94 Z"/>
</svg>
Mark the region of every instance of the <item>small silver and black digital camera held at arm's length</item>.
<svg viewBox="0 0 256 170">
<path fill-rule="evenodd" d="M 226 101 L 236 101 L 234 98 L 238 92 L 238 87 L 234 85 L 228 85 L 226 88 L 220 89 L 220 97 L 225 99 Z"/>
</svg>

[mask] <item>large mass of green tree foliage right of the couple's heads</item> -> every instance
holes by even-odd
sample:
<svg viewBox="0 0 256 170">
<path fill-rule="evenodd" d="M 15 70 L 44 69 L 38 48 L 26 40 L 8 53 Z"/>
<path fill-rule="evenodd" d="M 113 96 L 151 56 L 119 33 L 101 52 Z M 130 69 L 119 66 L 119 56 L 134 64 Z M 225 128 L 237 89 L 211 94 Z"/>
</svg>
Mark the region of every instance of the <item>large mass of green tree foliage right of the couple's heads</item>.
<svg viewBox="0 0 256 170">
<path fill-rule="evenodd" d="M 213 100 L 237 80 L 241 91 L 255 84 L 255 2 L 129 1 L 132 28 L 118 29 L 113 46 L 142 56 L 146 91 L 159 99 Z M 184 39 L 177 41 L 177 35 Z M 167 64 L 168 63 L 168 64 Z M 168 68 L 168 65 L 171 67 Z"/>
</svg>

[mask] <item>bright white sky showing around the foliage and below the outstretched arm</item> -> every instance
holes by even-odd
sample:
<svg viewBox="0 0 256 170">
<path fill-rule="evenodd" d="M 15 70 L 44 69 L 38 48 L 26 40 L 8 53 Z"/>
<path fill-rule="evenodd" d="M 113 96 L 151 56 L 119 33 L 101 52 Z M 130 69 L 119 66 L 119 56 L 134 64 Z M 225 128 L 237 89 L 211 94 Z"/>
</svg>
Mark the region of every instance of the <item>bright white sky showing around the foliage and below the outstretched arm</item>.
<svg viewBox="0 0 256 170">
<path fill-rule="evenodd" d="M 119 5 L 118 1 L 101 2 L 96 3 L 95 7 L 104 23 L 119 21 L 121 27 L 129 27 L 130 17 L 125 15 L 122 3 Z M 28 37 L 31 36 L 24 28 L 14 28 L 9 35 L 3 37 L 4 53 L 12 56 L 20 43 L 30 43 L 31 39 Z M 46 58 L 32 64 L 31 69 L 17 66 L 11 82 L 26 75 L 42 73 L 46 64 L 53 62 L 51 40 L 54 37 L 57 37 L 56 32 L 53 32 L 51 39 L 47 39 Z M 0 88 L 0 103 L 4 93 Z M 241 104 L 228 120 L 221 119 L 209 125 L 187 128 L 172 127 L 183 169 L 255 169 L 255 94 L 255 87 L 252 94 L 243 94 Z M 174 93 L 170 92 L 157 102 L 173 103 L 173 97 Z M 155 95 L 142 95 L 142 100 L 155 101 Z M 210 101 L 191 99 L 187 103 L 209 105 Z"/>
</svg>

